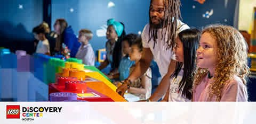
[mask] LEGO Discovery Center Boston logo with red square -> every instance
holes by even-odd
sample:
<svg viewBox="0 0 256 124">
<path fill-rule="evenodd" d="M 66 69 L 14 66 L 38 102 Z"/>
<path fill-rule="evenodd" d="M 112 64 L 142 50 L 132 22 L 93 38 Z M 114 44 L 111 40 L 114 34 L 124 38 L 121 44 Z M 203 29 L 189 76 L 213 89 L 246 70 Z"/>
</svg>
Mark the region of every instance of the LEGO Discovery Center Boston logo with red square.
<svg viewBox="0 0 256 124">
<path fill-rule="evenodd" d="M 41 118 L 45 113 L 60 113 L 62 107 L 22 107 L 20 105 L 6 105 L 6 119 L 20 119 L 31 121 Z"/>
</svg>

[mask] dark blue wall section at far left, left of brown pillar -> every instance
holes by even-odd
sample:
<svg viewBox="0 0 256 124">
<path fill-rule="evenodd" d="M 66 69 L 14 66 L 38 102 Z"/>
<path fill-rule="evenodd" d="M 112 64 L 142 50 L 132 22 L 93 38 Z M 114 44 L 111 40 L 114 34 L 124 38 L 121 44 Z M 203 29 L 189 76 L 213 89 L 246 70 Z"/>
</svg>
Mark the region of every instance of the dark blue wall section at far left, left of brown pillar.
<svg viewBox="0 0 256 124">
<path fill-rule="evenodd" d="M 19 4 L 22 7 L 19 8 Z M 32 29 L 43 21 L 42 1 L 1 1 L 0 13 L 0 46 L 31 53 L 34 48 Z"/>
</svg>

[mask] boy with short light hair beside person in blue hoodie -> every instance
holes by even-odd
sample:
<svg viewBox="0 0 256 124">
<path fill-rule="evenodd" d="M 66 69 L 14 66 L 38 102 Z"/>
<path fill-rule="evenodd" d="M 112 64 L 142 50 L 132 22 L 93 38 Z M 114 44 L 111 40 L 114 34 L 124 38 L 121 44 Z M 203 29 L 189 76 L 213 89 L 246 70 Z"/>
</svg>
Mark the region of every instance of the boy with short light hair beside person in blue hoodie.
<svg viewBox="0 0 256 124">
<path fill-rule="evenodd" d="M 94 51 L 92 49 L 91 44 L 89 43 L 89 40 L 91 40 L 93 37 L 93 34 L 90 30 L 82 29 L 79 31 L 79 37 L 78 42 L 81 42 L 82 45 L 79 47 L 76 58 L 82 59 L 83 64 L 88 66 L 94 66 L 95 62 L 95 55 Z"/>
</svg>

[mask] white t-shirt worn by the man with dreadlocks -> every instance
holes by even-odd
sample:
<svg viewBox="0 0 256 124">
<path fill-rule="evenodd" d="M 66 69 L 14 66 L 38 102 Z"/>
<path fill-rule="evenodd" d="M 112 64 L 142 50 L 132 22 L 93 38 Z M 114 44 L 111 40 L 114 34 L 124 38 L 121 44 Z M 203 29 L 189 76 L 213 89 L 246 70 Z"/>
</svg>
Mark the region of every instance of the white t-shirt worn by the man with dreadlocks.
<svg viewBox="0 0 256 124">
<path fill-rule="evenodd" d="M 189 29 L 189 26 L 183 22 L 181 22 L 180 20 L 177 21 L 177 34 L 180 33 L 181 31 L 185 30 L 185 29 Z M 163 36 L 165 36 L 165 31 L 166 28 L 163 29 Z M 168 67 L 169 64 L 171 62 L 171 59 L 175 60 L 175 55 L 174 52 L 172 50 L 166 50 L 167 48 L 167 34 L 165 36 L 165 41 L 164 38 L 162 37 L 162 29 L 158 29 L 157 31 L 157 42 L 155 44 L 155 48 L 154 47 L 154 40 L 151 39 L 149 42 L 149 23 L 145 26 L 145 28 L 143 29 L 143 32 L 141 34 L 141 39 L 142 39 L 142 45 L 144 48 L 150 48 L 153 56 L 154 56 L 154 60 L 156 61 L 158 68 L 159 68 L 159 72 L 162 76 L 162 78 L 164 77 L 164 75 L 167 73 L 168 71 Z"/>
</svg>

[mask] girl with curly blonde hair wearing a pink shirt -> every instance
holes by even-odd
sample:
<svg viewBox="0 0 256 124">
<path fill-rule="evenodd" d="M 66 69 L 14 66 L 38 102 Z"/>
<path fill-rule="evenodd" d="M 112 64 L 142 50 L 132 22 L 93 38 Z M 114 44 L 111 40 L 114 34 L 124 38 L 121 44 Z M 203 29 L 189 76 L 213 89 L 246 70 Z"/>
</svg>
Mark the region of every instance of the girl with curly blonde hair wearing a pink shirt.
<svg viewBox="0 0 256 124">
<path fill-rule="evenodd" d="M 197 49 L 193 101 L 247 101 L 247 45 L 231 26 L 204 29 Z"/>
</svg>

